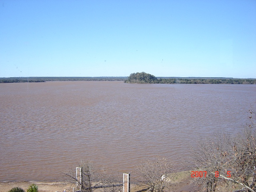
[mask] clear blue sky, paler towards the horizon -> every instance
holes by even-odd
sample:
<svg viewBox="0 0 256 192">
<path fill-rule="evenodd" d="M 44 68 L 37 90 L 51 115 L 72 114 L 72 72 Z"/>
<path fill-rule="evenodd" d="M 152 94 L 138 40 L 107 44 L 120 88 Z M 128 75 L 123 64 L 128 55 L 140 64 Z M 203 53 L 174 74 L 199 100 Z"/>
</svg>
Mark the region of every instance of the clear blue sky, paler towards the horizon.
<svg viewBox="0 0 256 192">
<path fill-rule="evenodd" d="M 256 0 L 0 0 L 0 77 L 256 78 Z"/>
</svg>

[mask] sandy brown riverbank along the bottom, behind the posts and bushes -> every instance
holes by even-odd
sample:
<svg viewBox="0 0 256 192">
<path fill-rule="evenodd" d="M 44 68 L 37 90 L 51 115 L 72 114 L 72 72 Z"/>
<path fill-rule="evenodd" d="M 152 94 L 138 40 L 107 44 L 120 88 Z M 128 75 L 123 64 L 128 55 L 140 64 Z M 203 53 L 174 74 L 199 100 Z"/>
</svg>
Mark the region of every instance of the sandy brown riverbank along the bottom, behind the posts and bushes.
<svg viewBox="0 0 256 192">
<path fill-rule="evenodd" d="M 175 175 L 171 182 L 171 187 L 168 188 L 169 192 L 197 192 L 198 188 L 190 184 L 191 176 L 187 172 L 179 172 Z M 38 186 L 38 192 L 72 192 L 74 184 L 67 182 L 0 182 L 0 192 L 8 192 L 14 187 L 20 187 L 25 191 L 31 184 L 36 184 Z M 142 190 L 141 187 L 131 184 L 131 192 L 136 192 Z M 100 190 L 98 190 L 100 191 Z"/>
</svg>

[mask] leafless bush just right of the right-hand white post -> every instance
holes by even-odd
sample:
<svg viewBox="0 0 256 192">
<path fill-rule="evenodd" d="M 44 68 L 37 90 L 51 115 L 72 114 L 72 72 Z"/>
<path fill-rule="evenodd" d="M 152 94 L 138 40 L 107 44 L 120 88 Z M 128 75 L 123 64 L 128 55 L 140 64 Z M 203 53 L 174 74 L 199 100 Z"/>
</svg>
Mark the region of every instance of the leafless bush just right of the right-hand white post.
<svg viewBox="0 0 256 192">
<path fill-rule="evenodd" d="M 172 164 L 166 158 L 159 156 L 154 159 L 148 159 L 137 167 L 139 180 L 151 192 L 163 192 L 168 183 L 168 174 L 172 172 Z"/>
</svg>

